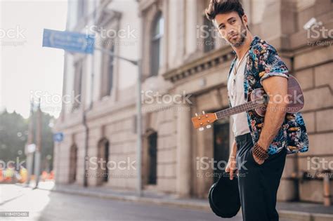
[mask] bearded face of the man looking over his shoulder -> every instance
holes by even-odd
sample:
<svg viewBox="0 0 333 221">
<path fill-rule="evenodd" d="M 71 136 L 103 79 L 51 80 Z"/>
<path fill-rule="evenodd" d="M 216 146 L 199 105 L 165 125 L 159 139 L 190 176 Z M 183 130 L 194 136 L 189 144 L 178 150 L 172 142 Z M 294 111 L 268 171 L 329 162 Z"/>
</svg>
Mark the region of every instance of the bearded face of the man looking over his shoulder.
<svg viewBox="0 0 333 221">
<path fill-rule="evenodd" d="M 232 46 L 239 47 L 247 36 L 247 16 L 241 19 L 237 12 L 218 14 L 215 17 L 215 25 L 223 39 L 226 39 Z"/>
</svg>

